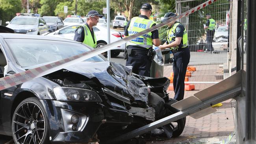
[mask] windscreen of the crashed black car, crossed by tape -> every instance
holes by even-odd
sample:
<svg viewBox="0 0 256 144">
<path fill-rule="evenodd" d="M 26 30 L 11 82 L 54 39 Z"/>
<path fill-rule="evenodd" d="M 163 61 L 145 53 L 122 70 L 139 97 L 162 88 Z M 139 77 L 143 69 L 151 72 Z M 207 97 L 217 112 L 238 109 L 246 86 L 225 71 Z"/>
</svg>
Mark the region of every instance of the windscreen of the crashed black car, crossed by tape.
<svg viewBox="0 0 256 144">
<path fill-rule="evenodd" d="M 22 67 L 33 67 L 42 63 L 59 61 L 90 49 L 76 42 L 39 39 L 6 39 L 16 62 Z M 105 61 L 96 55 L 85 61 Z"/>
</svg>

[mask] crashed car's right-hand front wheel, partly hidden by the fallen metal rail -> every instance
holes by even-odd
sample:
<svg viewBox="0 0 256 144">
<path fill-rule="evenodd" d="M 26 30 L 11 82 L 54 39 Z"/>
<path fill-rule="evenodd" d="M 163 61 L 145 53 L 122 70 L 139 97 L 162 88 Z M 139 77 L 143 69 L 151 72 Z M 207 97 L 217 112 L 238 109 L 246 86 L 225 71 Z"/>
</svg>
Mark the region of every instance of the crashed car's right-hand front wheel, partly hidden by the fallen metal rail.
<svg viewBox="0 0 256 144">
<path fill-rule="evenodd" d="M 174 100 L 172 98 L 169 98 L 169 101 L 165 102 L 164 106 L 165 106 L 166 113 L 161 118 L 164 118 L 166 116 L 170 116 L 171 114 L 179 112 L 178 109 L 175 109 L 174 107 L 171 106 L 173 103 L 176 103 L 176 102 L 178 102 L 178 101 Z M 175 126 L 173 125 L 174 123 L 175 123 Z M 178 137 L 178 136 L 180 136 L 182 134 L 182 132 L 184 130 L 184 127 L 185 127 L 185 124 L 186 124 L 186 117 L 185 118 L 181 118 L 179 120 L 176 120 L 175 122 L 171 122 L 170 124 L 165 125 L 165 127 L 173 129 L 172 137 Z M 166 135 L 166 133 L 163 136 L 168 137 Z"/>
</svg>

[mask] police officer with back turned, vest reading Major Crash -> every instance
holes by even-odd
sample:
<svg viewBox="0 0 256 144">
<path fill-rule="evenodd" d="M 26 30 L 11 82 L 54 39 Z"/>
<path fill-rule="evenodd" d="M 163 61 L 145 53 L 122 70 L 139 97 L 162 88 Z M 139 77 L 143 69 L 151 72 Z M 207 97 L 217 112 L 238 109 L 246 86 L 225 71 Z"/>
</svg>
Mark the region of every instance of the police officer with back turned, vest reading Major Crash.
<svg viewBox="0 0 256 144">
<path fill-rule="evenodd" d="M 125 30 L 124 35 L 130 36 L 140 31 L 146 30 L 156 25 L 156 22 L 150 20 L 152 13 L 152 6 L 145 3 L 140 9 L 141 15 L 132 18 Z M 159 46 L 161 41 L 159 39 L 158 30 L 151 31 L 145 35 L 141 35 L 127 42 L 127 60 L 126 66 L 133 66 L 132 72 L 141 76 L 150 76 L 152 45 Z"/>
</svg>

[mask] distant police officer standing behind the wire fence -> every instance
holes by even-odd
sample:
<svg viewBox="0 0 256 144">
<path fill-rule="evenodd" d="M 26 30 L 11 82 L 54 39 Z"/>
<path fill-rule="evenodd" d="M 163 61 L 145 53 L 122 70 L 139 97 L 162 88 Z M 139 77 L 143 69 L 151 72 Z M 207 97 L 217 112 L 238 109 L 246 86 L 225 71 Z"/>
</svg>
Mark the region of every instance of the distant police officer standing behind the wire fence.
<svg viewBox="0 0 256 144">
<path fill-rule="evenodd" d="M 213 36 L 215 33 L 215 20 L 211 18 L 211 15 L 209 13 L 206 14 L 206 26 L 204 26 L 204 29 L 206 29 L 206 41 L 207 41 L 207 51 L 212 52 L 213 46 Z"/>
</svg>

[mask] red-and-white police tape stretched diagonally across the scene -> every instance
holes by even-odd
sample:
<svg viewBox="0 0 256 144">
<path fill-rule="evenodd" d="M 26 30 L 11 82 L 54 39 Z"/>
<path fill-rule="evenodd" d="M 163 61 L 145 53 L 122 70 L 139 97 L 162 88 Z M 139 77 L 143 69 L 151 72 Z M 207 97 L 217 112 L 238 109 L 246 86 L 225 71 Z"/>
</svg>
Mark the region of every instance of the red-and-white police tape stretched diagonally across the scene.
<svg viewBox="0 0 256 144">
<path fill-rule="evenodd" d="M 144 31 L 141 31 L 139 33 L 136 33 L 134 35 L 131 35 L 129 37 L 126 37 L 124 39 L 121 39 L 119 41 L 113 42 L 111 44 L 107 44 L 105 46 L 99 47 L 99 48 L 95 48 L 93 50 L 90 50 L 88 52 L 84 52 L 82 54 L 79 55 L 75 55 L 60 61 L 56 61 L 47 65 L 43 65 L 43 66 L 39 66 L 37 68 L 33 68 L 30 70 L 26 70 L 24 72 L 20 72 L 17 74 L 13 74 L 11 76 L 6 76 L 4 78 L 0 78 L 0 90 L 4 90 L 7 89 L 9 87 L 13 87 L 15 85 L 19 85 L 21 83 L 24 83 L 26 81 L 30 81 L 34 78 L 38 78 L 41 76 L 45 76 L 46 74 L 50 74 L 52 72 L 55 72 L 57 70 L 63 69 L 67 66 L 73 65 L 75 63 L 78 63 L 80 61 L 83 61 L 85 59 L 89 59 L 90 57 L 93 57 L 95 55 L 101 54 L 103 52 L 106 52 L 108 50 L 113 49 L 116 46 L 119 46 L 121 44 L 124 44 L 125 42 L 131 41 L 132 39 L 135 39 L 136 37 L 139 37 L 141 35 L 144 35 L 150 31 L 154 31 L 158 28 L 161 28 L 162 26 L 165 26 L 166 24 L 174 21 L 174 20 L 178 20 L 180 18 L 186 17 L 188 15 L 190 15 L 191 13 L 194 13 L 195 11 L 198 11 L 208 5 L 210 5 L 211 3 L 215 2 L 217 0 L 208 0 L 206 2 L 204 2 L 203 4 L 200 4 L 176 17 L 173 17 L 165 22 L 162 22 L 160 24 L 157 24 L 156 26 L 153 26 L 151 28 L 148 28 Z"/>
</svg>

